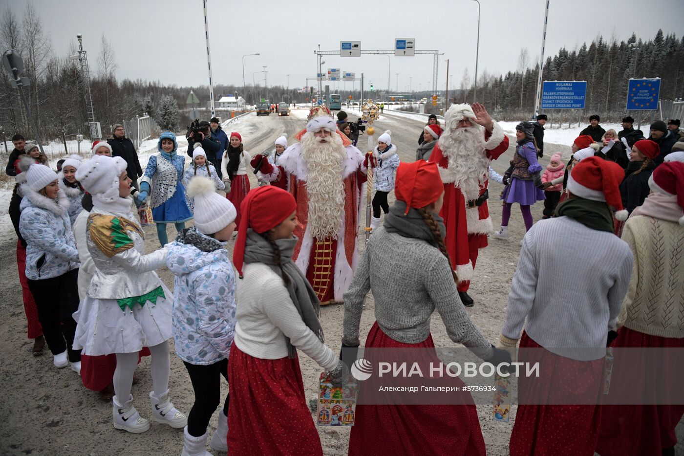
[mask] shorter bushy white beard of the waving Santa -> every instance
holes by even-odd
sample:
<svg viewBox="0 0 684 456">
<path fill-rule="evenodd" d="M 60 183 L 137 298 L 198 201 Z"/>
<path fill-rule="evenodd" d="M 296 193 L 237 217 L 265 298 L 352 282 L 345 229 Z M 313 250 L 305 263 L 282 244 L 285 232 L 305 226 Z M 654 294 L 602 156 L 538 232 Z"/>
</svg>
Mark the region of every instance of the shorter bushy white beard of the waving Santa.
<svg viewBox="0 0 684 456">
<path fill-rule="evenodd" d="M 453 185 L 460 188 L 466 200 L 477 199 L 479 188 L 487 181 L 490 159 L 484 149 L 482 127 L 464 127 L 445 132 L 439 138 L 439 148 L 449 158 Z"/>
</svg>

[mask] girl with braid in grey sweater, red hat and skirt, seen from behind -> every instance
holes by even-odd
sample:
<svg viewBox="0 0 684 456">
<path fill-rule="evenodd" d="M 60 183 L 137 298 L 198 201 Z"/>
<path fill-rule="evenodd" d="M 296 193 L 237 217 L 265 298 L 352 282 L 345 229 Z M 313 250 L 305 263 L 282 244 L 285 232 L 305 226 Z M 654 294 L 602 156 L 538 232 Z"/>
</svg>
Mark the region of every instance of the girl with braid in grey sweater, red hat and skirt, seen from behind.
<svg viewBox="0 0 684 456">
<path fill-rule="evenodd" d="M 395 194 L 397 201 L 373 233 L 344 294 L 343 349 L 359 346 L 361 312 L 372 290 L 376 322 L 366 348 L 431 349 L 436 359 L 430 335 L 436 309 L 453 342 L 492 364 L 510 362 L 507 352 L 484 338 L 458 297 L 438 216 L 444 185 L 437 165 L 399 164 Z M 375 454 L 484 455 L 472 398 L 467 405 L 357 405 L 349 455 Z"/>
</svg>

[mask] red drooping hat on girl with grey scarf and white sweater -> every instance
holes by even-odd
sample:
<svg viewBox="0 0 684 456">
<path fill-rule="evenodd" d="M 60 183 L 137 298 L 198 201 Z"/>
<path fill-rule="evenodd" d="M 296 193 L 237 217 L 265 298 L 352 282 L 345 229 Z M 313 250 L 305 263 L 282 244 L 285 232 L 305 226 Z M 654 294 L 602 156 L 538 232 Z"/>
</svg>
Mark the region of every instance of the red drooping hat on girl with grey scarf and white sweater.
<svg viewBox="0 0 684 456">
<path fill-rule="evenodd" d="M 285 220 L 297 209 L 297 202 L 286 190 L 275 186 L 264 186 L 251 190 L 240 205 L 240 226 L 233 249 L 233 266 L 242 278 L 242 265 L 245 259 L 247 229 L 265 233 Z"/>
</svg>

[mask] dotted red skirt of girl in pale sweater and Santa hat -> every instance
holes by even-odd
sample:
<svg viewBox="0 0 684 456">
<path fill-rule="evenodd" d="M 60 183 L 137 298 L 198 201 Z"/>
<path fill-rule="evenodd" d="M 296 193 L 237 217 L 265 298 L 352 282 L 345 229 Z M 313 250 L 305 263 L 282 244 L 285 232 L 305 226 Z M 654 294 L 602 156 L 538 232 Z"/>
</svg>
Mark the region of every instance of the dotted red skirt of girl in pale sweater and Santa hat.
<svg viewBox="0 0 684 456">
<path fill-rule="evenodd" d="M 520 340 L 521 349 L 543 349 L 525 331 Z M 555 355 L 547 350 L 521 353 L 519 362 L 539 362 L 542 377 L 553 381 L 528 383 L 524 379 L 518 386 L 521 401 L 523 396 L 540 400 L 558 395 L 568 398 L 573 394 L 586 397 L 590 391 L 579 391 L 578 384 L 596 390 L 603 376 L 603 358 L 594 361 L 576 361 Z M 577 379 L 586 379 L 586 382 Z M 575 379 L 566 381 L 564 379 Z M 601 407 L 598 405 L 518 405 L 515 425 L 510 440 L 511 456 L 593 456 L 596 440 L 599 438 Z"/>
</svg>

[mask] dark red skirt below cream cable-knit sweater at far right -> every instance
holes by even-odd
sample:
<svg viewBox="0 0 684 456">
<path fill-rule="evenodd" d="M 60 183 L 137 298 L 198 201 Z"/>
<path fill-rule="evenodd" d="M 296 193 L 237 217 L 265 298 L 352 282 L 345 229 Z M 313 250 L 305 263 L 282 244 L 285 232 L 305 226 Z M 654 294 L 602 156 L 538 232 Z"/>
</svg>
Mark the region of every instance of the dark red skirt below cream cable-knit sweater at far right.
<svg viewBox="0 0 684 456">
<path fill-rule="evenodd" d="M 613 346 L 683 348 L 684 338 L 661 338 L 622 327 Z M 681 361 L 681 355 L 673 356 L 668 364 L 674 366 L 681 364 Z M 648 360 L 634 360 L 634 362 L 648 362 Z M 614 375 L 618 373 L 615 372 L 617 368 L 616 364 Z M 631 365 L 624 366 L 624 368 L 629 369 L 629 372 L 635 371 Z M 642 369 L 637 370 L 644 372 Z M 614 383 L 611 388 L 620 388 L 620 385 Z M 663 448 L 676 445 L 674 428 L 683 415 L 684 405 L 603 405 L 601 407 L 601 432 L 596 452 L 601 456 L 660 455 Z"/>
</svg>

